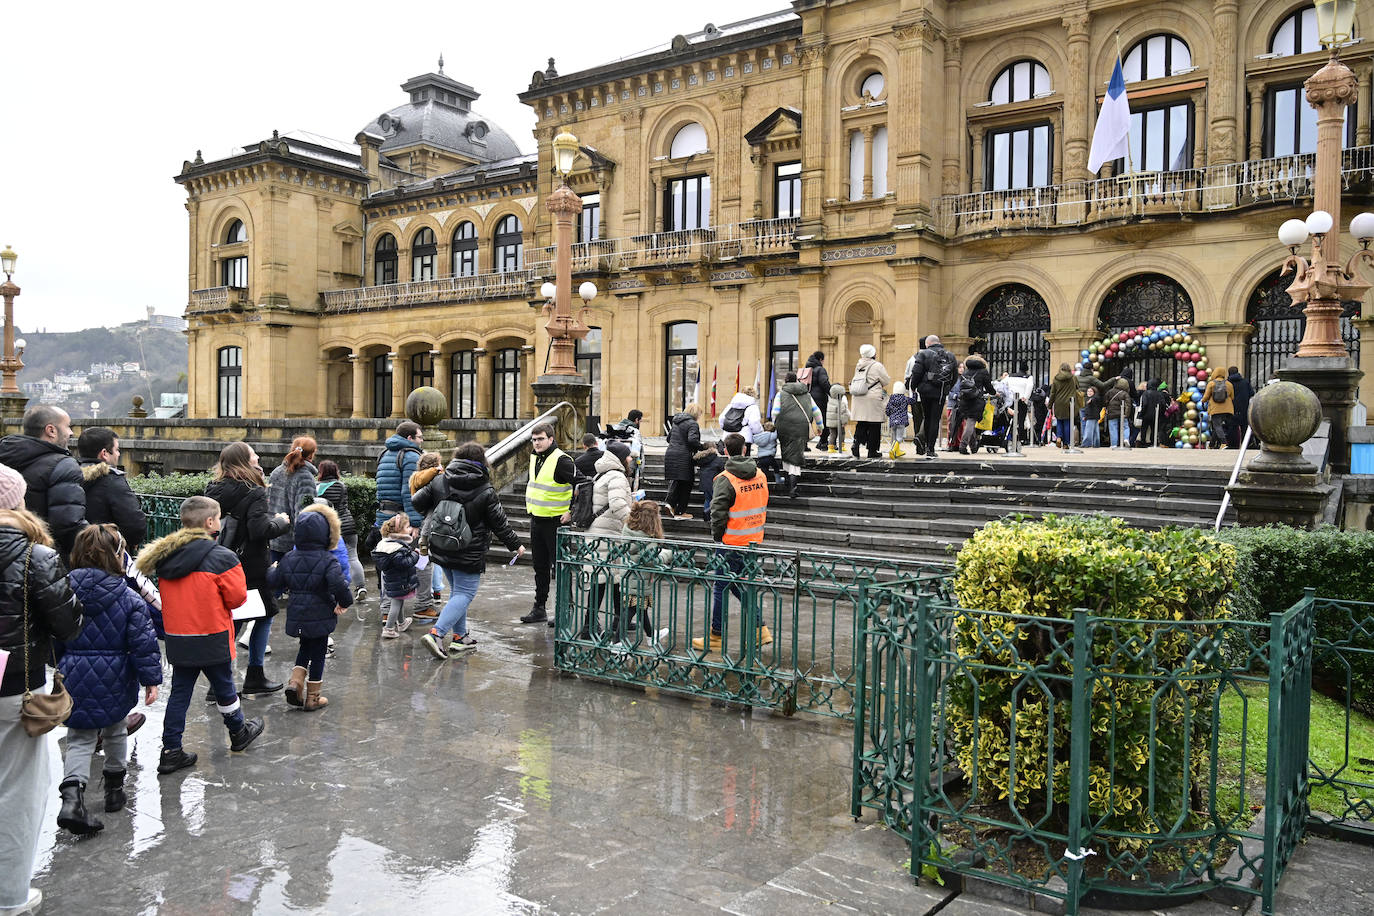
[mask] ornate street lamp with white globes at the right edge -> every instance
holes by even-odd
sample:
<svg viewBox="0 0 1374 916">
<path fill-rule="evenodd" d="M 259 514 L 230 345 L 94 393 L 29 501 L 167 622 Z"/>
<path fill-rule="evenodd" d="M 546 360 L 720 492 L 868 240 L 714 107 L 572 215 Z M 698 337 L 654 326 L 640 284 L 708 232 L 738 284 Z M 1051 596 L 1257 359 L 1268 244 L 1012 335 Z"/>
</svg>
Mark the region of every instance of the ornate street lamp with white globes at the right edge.
<svg viewBox="0 0 1374 916">
<path fill-rule="evenodd" d="M 1294 302 L 1305 302 L 1307 330 L 1298 343 L 1296 356 L 1338 357 L 1349 354 L 1341 341 L 1341 302 L 1358 299 L 1369 290 L 1353 273 L 1356 262 L 1369 260 L 1367 251 L 1360 251 L 1351 262 L 1341 265 L 1341 140 L 1345 130 L 1345 107 L 1355 104 L 1358 82 L 1351 69 L 1337 56 L 1341 44 L 1349 41 L 1355 25 L 1355 0 L 1318 0 L 1316 32 L 1331 58 L 1320 70 L 1303 84 L 1307 102 L 1316 108 L 1316 162 L 1314 168 L 1315 210 L 1305 221 L 1289 220 L 1279 229 L 1279 242 L 1289 249 L 1283 262 L 1283 273 L 1294 272 L 1293 284 L 1287 288 Z M 1351 224 L 1351 231 L 1366 246 L 1369 235 L 1362 236 L 1374 217 L 1363 220 L 1360 214 Z M 1359 229 L 1356 227 L 1360 227 Z M 1297 246 L 1314 238 L 1312 260 L 1297 254 Z"/>
</svg>

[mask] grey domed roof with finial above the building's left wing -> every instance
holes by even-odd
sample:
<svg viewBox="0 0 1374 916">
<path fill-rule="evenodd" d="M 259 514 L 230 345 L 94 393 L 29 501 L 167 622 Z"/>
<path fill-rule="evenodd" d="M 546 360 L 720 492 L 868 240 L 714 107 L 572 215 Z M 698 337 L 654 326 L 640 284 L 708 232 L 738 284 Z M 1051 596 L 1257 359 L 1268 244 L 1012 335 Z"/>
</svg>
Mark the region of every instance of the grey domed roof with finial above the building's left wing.
<svg viewBox="0 0 1374 916">
<path fill-rule="evenodd" d="M 401 84 L 411 100 L 379 114 L 363 130 L 379 137 L 382 154 L 418 144 L 448 150 L 478 162 L 521 155 L 500 126 L 471 110 L 478 93 L 442 73 L 426 73 Z"/>
</svg>

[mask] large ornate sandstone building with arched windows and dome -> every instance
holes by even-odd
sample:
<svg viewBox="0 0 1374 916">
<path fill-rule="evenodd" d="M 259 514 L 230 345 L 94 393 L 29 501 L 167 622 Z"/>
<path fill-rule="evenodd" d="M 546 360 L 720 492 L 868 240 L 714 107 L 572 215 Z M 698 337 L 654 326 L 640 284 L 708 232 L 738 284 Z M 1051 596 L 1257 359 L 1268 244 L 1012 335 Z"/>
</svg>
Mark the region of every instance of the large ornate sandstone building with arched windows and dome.
<svg viewBox="0 0 1374 916">
<path fill-rule="evenodd" d="M 386 416 L 419 383 L 455 416 L 528 415 L 561 129 L 583 147 L 594 413 L 657 427 L 698 379 L 723 405 L 812 349 L 837 382 L 861 343 L 900 372 L 929 332 L 1044 379 L 1106 328 L 1190 324 L 1213 364 L 1268 376 L 1301 336 L 1274 233 L 1311 209 L 1314 33 L 1292 0 L 796 0 L 551 60 L 519 96 L 529 157 L 471 88 L 416 77 L 357 146 L 273 135 L 185 163 L 192 415 Z M 1132 152 L 1091 174 L 1117 38 Z M 1374 48 L 1342 59 L 1348 221 L 1374 203 Z M 1370 374 L 1362 306 L 1342 324 Z"/>
</svg>

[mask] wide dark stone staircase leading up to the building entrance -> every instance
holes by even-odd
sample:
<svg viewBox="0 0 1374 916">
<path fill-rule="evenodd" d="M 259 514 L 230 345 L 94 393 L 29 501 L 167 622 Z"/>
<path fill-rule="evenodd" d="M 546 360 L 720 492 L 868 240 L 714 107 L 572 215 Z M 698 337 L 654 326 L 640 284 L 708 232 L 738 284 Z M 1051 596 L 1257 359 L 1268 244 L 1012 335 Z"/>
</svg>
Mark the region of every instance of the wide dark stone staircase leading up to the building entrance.
<svg viewBox="0 0 1374 916">
<path fill-rule="evenodd" d="M 1052 457 L 1047 453 L 1047 457 Z M 1228 472 L 1206 467 L 1061 463 L 1039 456 L 1009 460 L 949 457 L 936 461 L 826 459 L 808 467 L 796 499 L 776 492 L 768 505 L 767 545 L 949 563 L 952 549 L 985 523 L 1011 514 L 1107 512 L 1146 529 L 1210 527 Z M 649 455 L 640 477 L 649 499 L 662 500 L 662 456 Z M 523 538 L 523 481 L 502 490 L 511 525 Z M 701 494 L 690 520 L 664 519 L 669 538 L 708 540 Z M 1234 525 L 1227 508 L 1223 525 Z M 504 548 L 499 548 L 504 555 Z"/>
</svg>

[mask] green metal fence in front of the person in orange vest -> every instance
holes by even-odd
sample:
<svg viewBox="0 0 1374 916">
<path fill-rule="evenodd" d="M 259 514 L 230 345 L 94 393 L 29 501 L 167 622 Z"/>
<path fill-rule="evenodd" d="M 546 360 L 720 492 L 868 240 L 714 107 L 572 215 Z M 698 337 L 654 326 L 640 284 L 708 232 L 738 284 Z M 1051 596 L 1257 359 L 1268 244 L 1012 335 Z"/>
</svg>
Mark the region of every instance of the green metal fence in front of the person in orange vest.
<svg viewBox="0 0 1374 916">
<path fill-rule="evenodd" d="M 860 589 L 900 580 L 944 595 L 948 575 L 900 559 L 562 530 L 555 663 L 622 684 L 848 718 Z"/>
</svg>

